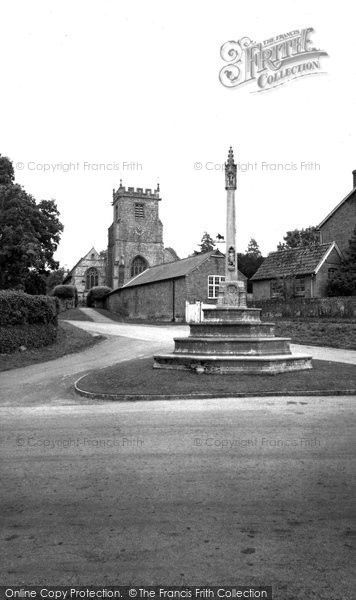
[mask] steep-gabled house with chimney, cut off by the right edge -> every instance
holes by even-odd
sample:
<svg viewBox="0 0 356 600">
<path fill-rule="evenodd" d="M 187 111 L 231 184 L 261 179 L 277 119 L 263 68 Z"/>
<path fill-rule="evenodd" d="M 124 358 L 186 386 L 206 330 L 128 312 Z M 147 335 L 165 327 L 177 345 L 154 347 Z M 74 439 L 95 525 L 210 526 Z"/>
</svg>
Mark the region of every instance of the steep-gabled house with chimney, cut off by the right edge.
<svg viewBox="0 0 356 600">
<path fill-rule="evenodd" d="M 353 189 L 318 225 L 321 243 L 336 242 L 344 253 L 356 227 L 356 170 L 352 172 Z"/>
</svg>

